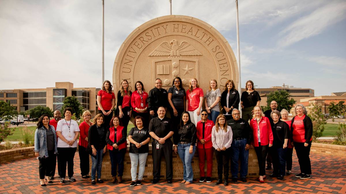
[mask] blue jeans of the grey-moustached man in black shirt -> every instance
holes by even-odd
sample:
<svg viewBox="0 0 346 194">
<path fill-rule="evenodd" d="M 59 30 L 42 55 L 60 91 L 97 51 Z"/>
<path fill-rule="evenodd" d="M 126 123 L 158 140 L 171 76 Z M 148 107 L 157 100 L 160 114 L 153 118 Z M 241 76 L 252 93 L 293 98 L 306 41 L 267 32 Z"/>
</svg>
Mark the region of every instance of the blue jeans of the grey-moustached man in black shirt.
<svg viewBox="0 0 346 194">
<path fill-rule="evenodd" d="M 240 160 L 240 177 L 246 177 L 248 169 L 249 150 L 245 150 L 247 139 L 233 140 L 231 144 L 232 178 L 238 178 L 238 160 Z"/>
</svg>

